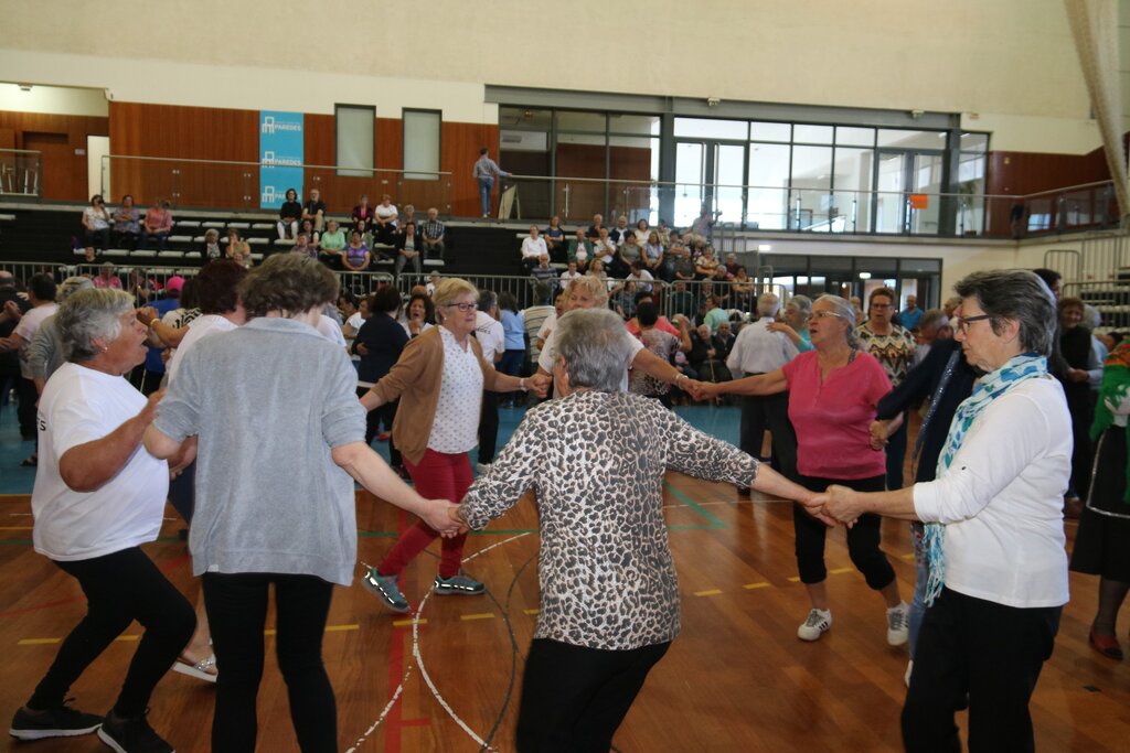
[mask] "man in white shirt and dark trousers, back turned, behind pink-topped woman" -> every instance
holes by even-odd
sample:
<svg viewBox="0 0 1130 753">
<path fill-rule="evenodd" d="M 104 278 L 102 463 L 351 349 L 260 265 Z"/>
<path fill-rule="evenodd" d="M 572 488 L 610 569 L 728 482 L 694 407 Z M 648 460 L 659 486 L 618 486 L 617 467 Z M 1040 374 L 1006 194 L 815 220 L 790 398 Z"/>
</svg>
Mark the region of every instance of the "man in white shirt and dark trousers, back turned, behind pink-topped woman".
<svg viewBox="0 0 1130 753">
<path fill-rule="evenodd" d="M 768 324 L 781 308 L 781 300 L 772 292 L 757 298 L 756 322 L 750 322 L 738 333 L 725 365 L 733 378 L 754 374 L 768 374 L 797 357 L 799 352 L 781 332 L 770 332 Z M 740 373 L 740 374 L 739 374 Z M 745 396 L 741 402 L 741 449 L 760 457 L 765 429 L 773 434 L 773 465 L 794 478 L 797 471 L 797 437 L 789 422 L 789 393 Z M 747 491 L 747 490 L 744 490 Z"/>
</svg>

